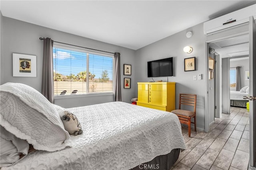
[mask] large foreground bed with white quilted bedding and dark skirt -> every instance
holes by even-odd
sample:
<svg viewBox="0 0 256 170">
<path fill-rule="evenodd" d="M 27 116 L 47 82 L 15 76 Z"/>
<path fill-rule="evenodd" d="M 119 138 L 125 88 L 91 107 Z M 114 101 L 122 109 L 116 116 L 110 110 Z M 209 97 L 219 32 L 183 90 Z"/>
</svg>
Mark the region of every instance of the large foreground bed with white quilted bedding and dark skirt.
<svg viewBox="0 0 256 170">
<path fill-rule="evenodd" d="M 13 84 L 8 84 L 13 85 Z M 17 84 L 16 84 L 17 85 Z M 1 107 L 1 126 L 6 128 L 7 131 L 15 133 L 16 137 L 22 138 L 33 145 L 35 150 L 28 152 L 22 159 L 12 163 L 11 166 L 6 166 L 2 170 L 14 170 L 14 169 L 90 169 L 90 170 L 108 170 L 108 169 L 146 169 L 151 167 L 158 169 L 170 169 L 170 167 L 178 159 L 180 149 L 186 149 L 184 139 L 181 132 L 181 125 L 178 117 L 170 112 L 160 111 L 156 109 L 150 109 L 147 107 L 136 106 L 127 104 L 124 102 L 110 102 L 104 104 L 96 104 L 92 106 L 74 107 L 64 109 L 62 107 L 50 104 L 45 101 L 41 94 L 32 90 L 32 98 L 28 90 L 22 90 L 26 92 L 29 98 L 29 103 L 24 102 L 18 93 L 17 88 L 14 90 L 12 87 L 3 88 L 6 84 L 1 86 L 1 105 L 10 109 L 2 109 Z M 20 85 L 16 87 L 21 87 Z M 22 85 L 23 87 L 23 85 Z M 24 86 L 26 88 L 26 86 Z M 6 90 L 7 89 L 7 90 Z M 30 89 L 31 90 L 31 89 Z M 16 94 L 14 94 L 14 91 Z M 40 125 L 42 123 L 33 122 L 35 119 L 29 120 L 31 126 L 28 128 L 37 128 L 31 135 L 27 135 L 28 129 L 24 129 L 24 134 L 20 135 L 15 127 L 16 120 L 10 114 L 17 114 L 20 119 L 23 119 L 20 114 L 27 114 L 24 111 L 20 111 L 19 107 L 30 107 L 37 110 L 41 118 L 37 115 L 34 117 L 43 122 L 42 119 L 49 116 L 50 121 L 55 120 L 55 125 L 60 123 L 56 128 L 62 127 L 59 119 L 59 115 L 56 118 L 53 117 L 53 113 L 47 115 L 45 111 L 40 113 L 40 109 L 36 108 L 36 104 L 32 104 L 36 95 L 40 96 L 40 104 L 38 108 L 44 109 L 43 104 L 47 105 L 52 112 L 58 114 L 59 110 L 65 110 L 67 113 L 73 113 L 79 120 L 83 133 L 80 135 L 70 135 L 67 137 L 67 133 L 64 130 L 62 133 L 63 139 L 53 143 L 45 143 L 44 140 L 37 139 L 34 133 L 38 133 L 42 138 L 47 139 L 48 135 L 41 135 L 44 131 L 48 131 L 48 134 L 52 131 L 56 131 L 54 128 L 48 127 L 48 125 Z M 37 99 L 36 99 L 37 100 Z M 41 101 L 43 100 L 43 102 Z M 18 101 L 18 102 L 17 102 Z M 17 103 L 22 104 L 17 104 Z M 50 107 L 51 106 L 51 107 Z M 15 107 L 15 108 L 12 108 Z M 22 110 L 22 109 L 21 109 Z M 30 110 L 30 109 L 25 109 Z M 17 111 L 17 113 L 15 113 Z M 14 112 L 14 113 L 13 113 Z M 54 113 L 54 114 L 55 114 Z M 29 116 L 26 115 L 26 117 Z M 29 116 L 28 119 L 32 119 Z M 9 120 L 9 122 L 8 122 Z M 14 123 L 10 123 L 10 120 Z M 57 123 L 56 123 L 57 122 Z M 10 125 L 12 124 L 12 125 Z M 52 124 L 51 124 L 52 125 Z M 10 126 L 12 127 L 11 129 Z M 24 125 L 22 125 L 24 126 Z M 44 128 L 40 128 L 44 126 Z M 66 126 L 64 124 L 66 129 Z M 49 128 L 49 129 L 48 129 Z M 14 129 L 14 130 L 13 130 Z M 12 131 L 13 130 L 13 131 Z M 28 130 L 28 132 L 26 132 Z M 58 129 L 60 131 L 61 129 Z M 2 133 L 2 131 L 1 131 Z M 22 132 L 23 133 L 23 132 Z M 2 134 L 1 134 L 2 135 Z M 59 138 L 58 138 L 59 139 Z M 57 140 L 57 139 L 56 139 Z M 46 140 L 47 141 L 47 140 Z M 43 145 L 43 147 L 42 147 Z M 56 147 L 52 147 L 52 146 Z M 58 149 L 56 149 L 58 148 Z M 56 150 L 54 150 L 56 149 Z M 146 163 L 146 166 L 142 163 Z M 150 169 L 150 168 L 149 168 Z"/>
</svg>

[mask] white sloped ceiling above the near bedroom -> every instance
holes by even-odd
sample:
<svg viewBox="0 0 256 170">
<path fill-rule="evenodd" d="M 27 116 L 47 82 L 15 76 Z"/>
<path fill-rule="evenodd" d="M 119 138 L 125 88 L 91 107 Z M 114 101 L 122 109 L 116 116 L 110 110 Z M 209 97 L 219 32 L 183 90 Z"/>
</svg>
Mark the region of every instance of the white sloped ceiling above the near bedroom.
<svg viewBox="0 0 256 170">
<path fill-rule="evenodd" d="M 254 0 L 0 0 L 3 16 L 139 49 Z"/>
</svg>

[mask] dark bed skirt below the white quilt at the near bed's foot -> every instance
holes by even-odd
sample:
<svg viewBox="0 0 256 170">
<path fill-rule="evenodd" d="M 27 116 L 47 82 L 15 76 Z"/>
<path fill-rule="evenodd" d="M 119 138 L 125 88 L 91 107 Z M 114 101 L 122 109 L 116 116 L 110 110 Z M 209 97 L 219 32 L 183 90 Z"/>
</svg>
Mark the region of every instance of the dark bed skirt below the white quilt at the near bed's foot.
<svg viewBox="0 0 256 170">
<path fill-rule="evenodd" d="M 180 149 L 173 149 L 170 153 L 156 156 L 153 160 L 140 164 L 131 170 L 169 170 L 178 160 Z"/>
</svg>

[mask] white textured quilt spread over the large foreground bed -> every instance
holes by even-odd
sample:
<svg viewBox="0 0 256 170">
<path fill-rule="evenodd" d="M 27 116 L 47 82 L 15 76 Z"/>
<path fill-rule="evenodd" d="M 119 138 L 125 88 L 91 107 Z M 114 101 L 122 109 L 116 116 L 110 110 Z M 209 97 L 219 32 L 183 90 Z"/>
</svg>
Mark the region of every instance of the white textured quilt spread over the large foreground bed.
<svg viewBox="0 0 256 170">
<path fill-rule="evenodd" d="M 37 150 L 2 170 L 128 170 L 172 149 L 186 149 L 180 121 L 173 113 L 123 102 L 68 110 L 84 131 L 71 137 L 71 148 Z"/>
</svg>

